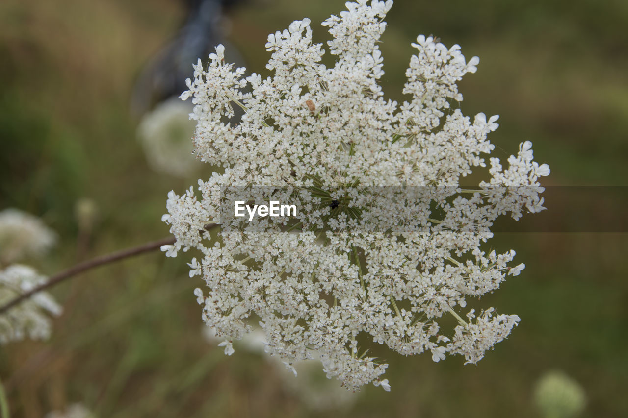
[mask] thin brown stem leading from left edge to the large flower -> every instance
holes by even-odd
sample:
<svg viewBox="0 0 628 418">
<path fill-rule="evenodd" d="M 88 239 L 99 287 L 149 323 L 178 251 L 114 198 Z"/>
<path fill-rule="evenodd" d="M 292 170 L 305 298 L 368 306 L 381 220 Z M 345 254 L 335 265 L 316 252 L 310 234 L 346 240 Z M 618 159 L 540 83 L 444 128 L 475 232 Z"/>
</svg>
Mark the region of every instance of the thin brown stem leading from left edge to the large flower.
<svg viewBox="0 0 628 418">
<path fill-rule="evenodd" d="M 13 301 L 2 306 L 0 308 L 0 314 L 5 313 L 6 311 L 13 308 L 17 304 L 21 303 L 25 299 L 28 299 L 29 297 L 33 296 L 35 293 L 48 289 L 48 287 L 55 286 L 55 284 L 58 284 L 64 281 L 65 279 L 69 279 L 72 276 L 76 276 L 79 273 L 93 269 L 94 267 L 98 267 L 99 265 L 109 264 L 117 260 L 122 260 L 128 257 L 133 257 L 133 255 L 138 255 L 138 254 L 143 254 L 144 252 L 154 251 L 154 250 L 160 249 L 161 245 L 169 245 L 169 244 L 173 244 L 174 242 L 175 242 L 174 237 L 163 238 L 158 241 L 149 242 L 148 244 L 139 245 L 139 247 L 133 247 L 126 250 L 120 250 L 112 254 L 101 255 L 100 257 L 96 257 L 95 259 L 87 260 L 85 262 L 77 264 L 73 267 L 70 267 L 66 271 L 62 271 L 58 274 L 55 274 L 55 276 L 50 277 L 50 279 L 48 279 L 47 282 L 40 284 L 40 286 L 33 287 L 33 289 L 31 289 L 30 291 L 24 292 L 20 296 L 13 299 Z"/>
</svg>

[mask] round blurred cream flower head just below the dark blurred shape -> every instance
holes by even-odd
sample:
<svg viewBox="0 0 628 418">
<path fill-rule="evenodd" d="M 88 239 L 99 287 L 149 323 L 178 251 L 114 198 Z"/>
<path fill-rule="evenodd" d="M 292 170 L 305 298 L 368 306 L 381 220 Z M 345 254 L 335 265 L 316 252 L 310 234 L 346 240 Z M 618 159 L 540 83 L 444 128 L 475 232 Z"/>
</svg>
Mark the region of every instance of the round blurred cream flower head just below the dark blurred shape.
<svg viewBox="0 0 628 418">
<path fill-rule="evenodd" d="M 139 122 L 138 136 L 155 171 L 187 177 L 199 168 L 190 141 L 195 126 L 190 121 L 191 112 L 192 105 L 175 97 L 159 104 Z"/>
</svg>

